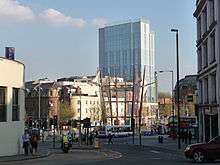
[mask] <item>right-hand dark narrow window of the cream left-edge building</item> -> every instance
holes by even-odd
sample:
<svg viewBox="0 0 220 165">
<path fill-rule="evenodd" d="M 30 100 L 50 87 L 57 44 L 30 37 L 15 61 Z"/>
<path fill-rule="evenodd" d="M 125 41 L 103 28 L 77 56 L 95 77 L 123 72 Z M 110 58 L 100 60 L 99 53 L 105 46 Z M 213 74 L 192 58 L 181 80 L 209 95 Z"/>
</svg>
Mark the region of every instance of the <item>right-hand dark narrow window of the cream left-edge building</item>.
<svg viewBox="0 0 220 165">
<path fill-rule="evenodd" d="M 12 96 L 12 121 L 19 121 L 19 89 L 13 88 Z"/>
</svg>

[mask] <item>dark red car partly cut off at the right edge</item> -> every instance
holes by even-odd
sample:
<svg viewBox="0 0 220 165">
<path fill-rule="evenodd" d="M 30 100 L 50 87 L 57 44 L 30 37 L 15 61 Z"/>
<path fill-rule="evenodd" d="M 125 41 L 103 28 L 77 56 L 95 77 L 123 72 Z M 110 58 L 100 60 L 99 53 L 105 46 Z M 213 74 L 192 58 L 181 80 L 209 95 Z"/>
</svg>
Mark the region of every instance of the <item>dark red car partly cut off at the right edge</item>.
<svg viewBox="0 0 220 165">
<path fill-rule="evenodd" d="M 216 136 L 208 143 L 191 144 L 184 150 L 186 158 L 196 163 L 220 159 L 220 136 Z"/>
</svg>

